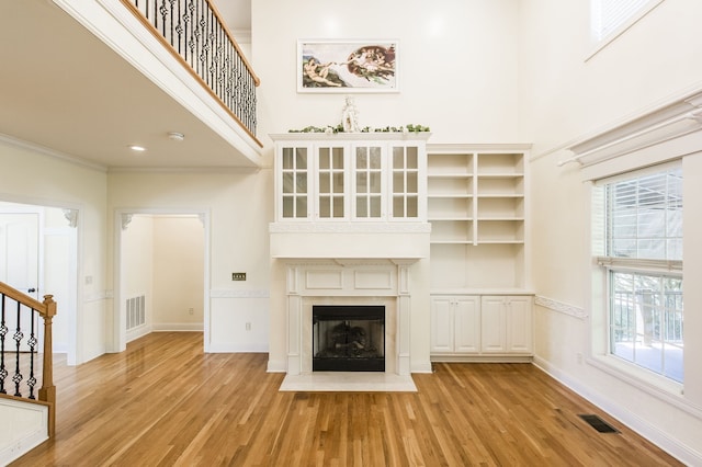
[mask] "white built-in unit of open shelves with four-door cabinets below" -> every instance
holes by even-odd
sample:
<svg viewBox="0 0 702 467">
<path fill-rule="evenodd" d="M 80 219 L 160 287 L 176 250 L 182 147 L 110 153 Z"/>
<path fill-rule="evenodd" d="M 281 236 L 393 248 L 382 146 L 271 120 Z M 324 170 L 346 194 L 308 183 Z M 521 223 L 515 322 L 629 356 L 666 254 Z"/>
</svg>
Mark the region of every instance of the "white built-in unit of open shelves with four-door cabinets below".
<svg viewBox="0 0 702 467">
<path fill-rule="evenodd" d="M 433 360 L 530 358 L 529 145 L 428 145 Z"/>
</svg>

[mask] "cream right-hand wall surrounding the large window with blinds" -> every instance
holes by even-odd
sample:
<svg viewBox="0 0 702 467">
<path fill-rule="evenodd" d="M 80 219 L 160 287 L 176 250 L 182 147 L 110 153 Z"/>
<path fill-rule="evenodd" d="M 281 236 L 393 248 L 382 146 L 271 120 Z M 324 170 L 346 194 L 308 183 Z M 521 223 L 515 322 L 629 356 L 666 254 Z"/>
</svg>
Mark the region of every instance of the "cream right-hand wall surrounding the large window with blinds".
<svg viewBox="0 0 702 467">
<path fill-rule="evenodd" d="M 520 24 L 520 134 L 534 143 L 532 173 L 533 283 L 537 296 L 536 361 L 615 417 L 689 463 L 702 462 L 702 385 L 699 368 L 702 301 L 697 241 L 686 241 L 684 395 L 669 395 L 613 376 L 588 361 L 590 249 L 588 189 L 577 164 L 557 167 L 562 147 L 702 89 L 698 0 L 665 0 L 625 34 L 586 60 L 590 50 L 587 2 L 522 2 Z M 700 157 L 686 161 L 686 213 L 699 213 Z M 688 170 L 691 169 L 691 170 Z M 697 191 L 698 193 L 694 193 Z M 688 203 L 690 201 L 690 203 Z M 701 229 L 686 215 L 686 238 Z M 688 274 L 689 272 L 689 274 Z M 695 282 L 697 281 L 697 282 Z M 561 310 L 558 310 L 561 308 Z M 565 312 L 564 312 L 565 311 Z M 586 316 L 579 316 L 579 312 Z M 690 319 L 689 319 L 690 318 Z M 584 360 L 579 356 L 584 355 Z M 695 451 L 697 449 L 697 451 Z"/>
</svg>

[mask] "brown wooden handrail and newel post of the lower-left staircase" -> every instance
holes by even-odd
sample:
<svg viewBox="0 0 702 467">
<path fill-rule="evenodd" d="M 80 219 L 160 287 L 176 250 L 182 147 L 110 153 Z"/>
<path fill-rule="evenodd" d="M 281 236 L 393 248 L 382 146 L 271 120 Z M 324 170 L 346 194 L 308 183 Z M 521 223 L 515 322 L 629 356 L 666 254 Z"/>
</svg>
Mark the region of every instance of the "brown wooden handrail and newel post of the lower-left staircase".
<svg viewBox="0 0 702 467">
<path fill-rule="evenodd" d="M 38 400 L 48 405 L 48 435 L 53 437 L 56 433 L 56 386 L 54 386 L 52 326 L 56 316 L 56 301 L 54 301 L 53 295 L 44 295 L 44 301 L 38 301 L 2 282 L 0 282 L 0 294 L 35 310 L 44 319 L 44 360 L 42 362 L 42 387 L 38 390 Z"/>
</svg>

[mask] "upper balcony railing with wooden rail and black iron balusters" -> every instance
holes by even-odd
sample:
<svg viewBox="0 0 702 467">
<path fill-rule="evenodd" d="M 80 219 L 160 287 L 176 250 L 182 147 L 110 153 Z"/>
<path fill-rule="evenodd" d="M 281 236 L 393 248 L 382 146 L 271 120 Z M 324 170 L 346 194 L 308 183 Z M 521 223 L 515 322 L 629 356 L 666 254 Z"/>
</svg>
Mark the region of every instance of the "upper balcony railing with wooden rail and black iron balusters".
<svg viewBox="0 0 702 467">
<path fill-rule="evenodd" d="M 256 139 L 259 79 L 210 0 L 121 1 Z"/>
</svg>

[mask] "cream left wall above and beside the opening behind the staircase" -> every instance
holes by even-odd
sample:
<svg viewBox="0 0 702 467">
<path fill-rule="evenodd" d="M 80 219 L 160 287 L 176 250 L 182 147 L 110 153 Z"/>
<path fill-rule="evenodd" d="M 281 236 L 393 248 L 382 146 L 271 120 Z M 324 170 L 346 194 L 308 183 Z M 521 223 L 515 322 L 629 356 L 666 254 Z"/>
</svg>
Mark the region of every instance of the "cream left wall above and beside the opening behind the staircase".
<svg viewBox="0 0 702 467">
<path fill-rule="evenodd" d="M 0 200 L 79 209 L 77 363 L 105 352 L 106 174 L 0 139 Z M 86 277 L 90 276 L 90 284 Z M 61 312 L 60 304 L 58 312 Z"/>
</svg>

